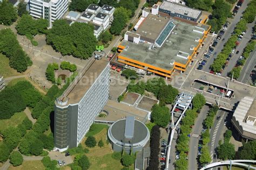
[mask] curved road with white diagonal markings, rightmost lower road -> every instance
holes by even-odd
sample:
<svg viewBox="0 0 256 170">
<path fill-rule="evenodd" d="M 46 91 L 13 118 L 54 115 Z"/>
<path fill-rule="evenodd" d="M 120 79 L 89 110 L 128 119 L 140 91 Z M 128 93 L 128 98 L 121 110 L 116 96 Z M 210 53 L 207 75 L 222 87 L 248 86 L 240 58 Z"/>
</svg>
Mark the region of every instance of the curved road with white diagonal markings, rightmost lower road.
<svg viewBox="0 0 256 170">
<path fill-rule="evenodd" d="M 210 133 L 210 142 L 208 144 L 210 148 L 210 155 L 212 158 L 212 162 L 217 162 L 218 159 L 213 159 L 213 155 L 215 154 L 215 149 L 219 146 L 219 140 L 223 138 L 223 134 L 226 131 L 226 126 L 224 126 L 224 122 L 227 119 L 228 112 L 225 112 L 223 110 L 218 111 L 216 118 L 220 115 L 220 119 L 217 120 L 215 119 L 214 125 L 211 128 L 211 133 Z M 211 162 L 211 163 L 212 163 Z M 217 168 L 216 168 L 217 169 Z"/>
</svg>

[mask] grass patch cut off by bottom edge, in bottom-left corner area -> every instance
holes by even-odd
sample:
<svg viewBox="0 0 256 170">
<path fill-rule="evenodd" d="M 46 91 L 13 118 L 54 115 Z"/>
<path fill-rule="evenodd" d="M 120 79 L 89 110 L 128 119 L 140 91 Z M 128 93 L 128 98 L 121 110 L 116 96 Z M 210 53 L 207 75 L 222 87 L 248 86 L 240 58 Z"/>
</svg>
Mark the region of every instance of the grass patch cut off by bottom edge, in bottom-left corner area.
<svg viewBox="0 0 256 170">
<path fill-rule="evenodd" d="M 8 168 L 8 170 L 29 170 L 29 169 L 44 170 L 45 167 L 41 161 L 37 160 L 37 161 L 24 161 L 23 164 L 20 166 L 16 166 L 16 167 L 10 166 Z"/>
</svg>

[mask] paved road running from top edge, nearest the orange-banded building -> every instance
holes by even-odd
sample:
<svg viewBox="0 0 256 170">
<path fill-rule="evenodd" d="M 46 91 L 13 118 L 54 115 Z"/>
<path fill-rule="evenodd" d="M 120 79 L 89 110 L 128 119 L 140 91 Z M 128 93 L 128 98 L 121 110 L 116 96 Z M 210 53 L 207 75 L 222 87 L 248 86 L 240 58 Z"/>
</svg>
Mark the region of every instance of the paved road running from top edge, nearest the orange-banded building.
<svg viewBox="0 0 256 170">
<path fill-rule="evenodd" d="M 225 33 L 222 37 L 222 39 L 225 38 L 224 42 L 221 39 L 221 40 L 219 40 L 217 46 L 215 46 L 215 49 L 214 49 L 213 53 L 217 52 L 217 55 L 216 56 L 212 55 L 208 59 L 206 65 L 203 67 L 204 71 L 206 71 L 206 72 L 210 71 L 210 65 L 213 63 L 213 60 L 218 56 L 218 53 L 221 52 L 221 50 L 223 49 L 224 44 L 227 42 L 228 38 L 230 38 L 231 33 L 233 32 L 233 30 L 235 28 L 235 25 L 237 25 L 237 23 L 240 21 L 240 17 L 242 16 L 242 12 L 246 9 L 248 3 L 249 3 L 249 1 L 244 1 L 244 3 L 242 3 L 242 6 L 240 7 L 240 9 L 237 12 L 237 15 L 235 15 L 235 17 L 232 19 L 231 24 L 228 25 L 227 30 L 225 31 Z"/>
</svg>

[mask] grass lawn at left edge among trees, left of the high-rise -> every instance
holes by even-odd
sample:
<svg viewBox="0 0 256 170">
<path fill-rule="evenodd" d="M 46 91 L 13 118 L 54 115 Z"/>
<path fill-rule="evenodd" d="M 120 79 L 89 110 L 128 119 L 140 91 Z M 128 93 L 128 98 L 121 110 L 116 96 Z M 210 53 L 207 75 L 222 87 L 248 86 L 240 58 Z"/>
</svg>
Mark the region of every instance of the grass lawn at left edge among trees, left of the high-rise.
<svg viewBox="0 0 256 170">
<path fill-rule="evenodd" d="M 22 123 L 25 119 L 26 114 L 24 112 L 15 113 L 10 119 L 0 120 L 0 130 L 4 130 L 10 126 L 16 127 Z"/>
</svg>

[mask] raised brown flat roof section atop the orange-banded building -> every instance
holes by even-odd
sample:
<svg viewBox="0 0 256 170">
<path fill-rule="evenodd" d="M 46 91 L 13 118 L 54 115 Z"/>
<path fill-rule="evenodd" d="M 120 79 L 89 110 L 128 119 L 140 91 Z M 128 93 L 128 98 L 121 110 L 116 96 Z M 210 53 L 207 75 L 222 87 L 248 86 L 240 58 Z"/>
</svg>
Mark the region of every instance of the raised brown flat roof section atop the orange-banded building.
<svg viewBox="0 0 256 170">
<path fill-rule="evenodd" d="M 139 25 L 138 33 L 140 36 L 156 40 L 161 30 L 170 21 L 170 18 L 158 17 L 157 15 L 149 15 L 144 19 L 143 23 Z"/>
</svg>

